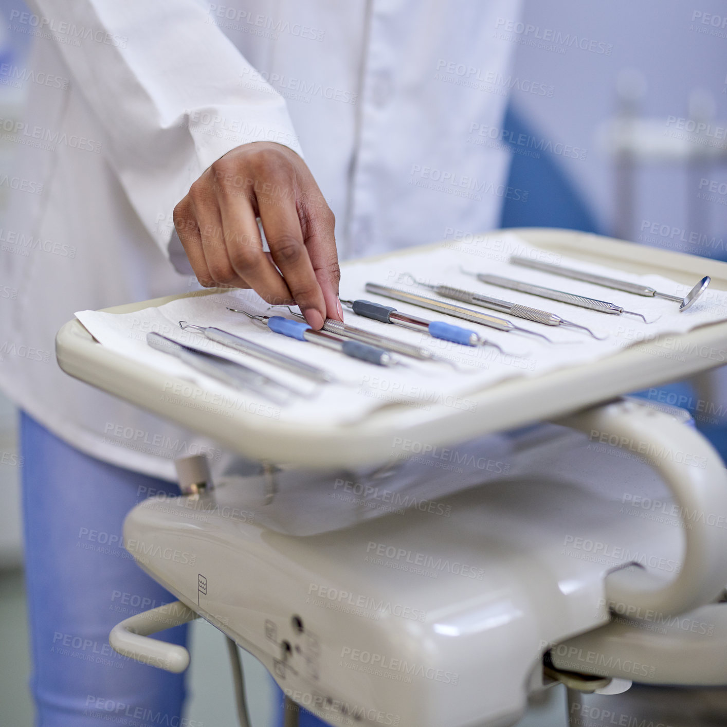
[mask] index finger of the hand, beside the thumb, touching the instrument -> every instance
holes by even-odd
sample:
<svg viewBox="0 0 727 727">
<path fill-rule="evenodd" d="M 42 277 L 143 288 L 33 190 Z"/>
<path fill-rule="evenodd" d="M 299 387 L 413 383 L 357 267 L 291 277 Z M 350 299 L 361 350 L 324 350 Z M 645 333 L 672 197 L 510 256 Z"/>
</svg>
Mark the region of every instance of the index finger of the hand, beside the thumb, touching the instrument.
<svg viewBox="0 0 727 727">
<path fill-rule="evenodd" d="M 326 300 L 308 256 L 300 228 L 296 196 L 276 190 L 292 188 L 294 182 L 283 174 L 277 176 L 272 193 L 257 193 L 257 208 L 268 239 L 270 254 L 305 320 L 320 329 L 326 318 Z"/>
</svg>

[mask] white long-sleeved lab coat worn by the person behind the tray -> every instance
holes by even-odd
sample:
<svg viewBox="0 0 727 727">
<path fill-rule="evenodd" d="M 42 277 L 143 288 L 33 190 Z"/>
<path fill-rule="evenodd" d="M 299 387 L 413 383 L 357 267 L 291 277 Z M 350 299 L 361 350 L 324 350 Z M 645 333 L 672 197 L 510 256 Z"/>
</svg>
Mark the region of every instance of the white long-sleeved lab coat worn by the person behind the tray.
<svg viewBox="0 0 727 727">
<path fill-rule="evenodd" d="M 174 457 L 221 457 L 71 379 L 53 352 L 76 310 L 196 287 L 172 209 L 228 150 L 272 140 L 303 154 L 342 258 L 492 228 L 518 194 L 502 186 L 507 154 L 469 140 L 473 124 L 501 124 L 518 83 L 512 44 L 493 37 L 518 1 L 32 7 L 9 24 L 36 36 L 41 75 L 25 81 L 23 124 L 0 121 L 26 182 L 1 225 L 0 386 L 94 457 L 164 478 Z"/>
</svg>

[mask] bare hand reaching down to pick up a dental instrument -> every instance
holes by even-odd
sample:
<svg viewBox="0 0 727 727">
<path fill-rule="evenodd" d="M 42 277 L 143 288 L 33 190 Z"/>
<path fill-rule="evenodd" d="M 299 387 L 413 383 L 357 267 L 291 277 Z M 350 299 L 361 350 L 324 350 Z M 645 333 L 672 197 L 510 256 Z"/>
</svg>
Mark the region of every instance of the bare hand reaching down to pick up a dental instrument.
<svg viewBox="0 0 727 727">
<path fill-rule="evenodd" d="M 174 207 L 174 227 L 201 285 L 252 288 L 273 305 L 298 305 L 314 329 L 326 316 L 343 319 L 334 222 L 302 158 L 273 142 L 226 153 Z"/>
</svg>

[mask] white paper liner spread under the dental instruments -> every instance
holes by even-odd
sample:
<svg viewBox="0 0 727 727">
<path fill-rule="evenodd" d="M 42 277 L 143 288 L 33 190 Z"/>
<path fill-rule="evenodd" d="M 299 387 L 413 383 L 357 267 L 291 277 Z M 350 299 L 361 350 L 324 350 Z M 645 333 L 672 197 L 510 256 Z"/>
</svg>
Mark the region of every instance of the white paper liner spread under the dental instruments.
<svg viewBox="0 0 727 727">
<path fill-rule="evenodd" d="M 241 413 L 245 411 L 287 422 L 325 422 L 329 425 L 358 422 L 372 411 L 392 404 L 400 406 L 403 404 L 410 407 L 414 417 L 426 417 L 427 411 L 435 412 L 440 406 L 473 410 L 474 402 L 470 395 L 505 379 L 536 377 L 554 369 L 587 364 L 590 361 L 613 356 L 619 350 L 635 344 L 648 345 L 648 342 L 654 340 L 658 335 L 680 334 L 697 326 L 727 320 L 727 292 L 708 289 L 690 309 L 680 313 L 678 304 L 675 302 L 624 293 L 555 276 L 551 273 L 542 273 L 539 270 L 510 265 L 507 260 L 512 254 L 527 255 L 544 262 L 554 262 L 567 267 L 646 284 L 661 292 L 679 296 L 686 295 L 690 287 L 662 276 L 638 276 L 603 265 L 570 259 L 555 252 L 538 249 L 513 233 L 506 232 L 476 237 L 467 242 L 454 242 L 425 252 L 404 252 L 401 255 L 382 260 L 349 263 L 344 266 L 342 273 L 340 286 L 342 299 L 375 300 L 421 318 L 448 321 L 476 331 L 505 351 L 505 354 L 502 354 L 491 346 L 471 348 L 436 340 L 424 333 L 410 331 L 401 326 L 387 326 L 368 318 L 355 316 L 352 312 L 345 310 L 345 320 L 348 324 L 402 341 L 424 345 L 438 356 L 451 362 L 450 364 L 422 362 L 398 356 L 406 365 L 393 368 L 366 364 L 312 343 L 281 336 L 240 313 L 228 311 L 229 306 L 230 308 L 244 308 L 251 313 L 290 316 L 285 308 L 270 309 L 268 303 L 257 294 L 246 290 L 187 297 L 169 302 L 159 308 L 145 308 L 145 310 L 135 313 L 121 315 L 84 310 L 76 313 L 76 317 L 101 345 L 128 358 L 130 364 L 149 366 L 168 377 L 177 377 L 196 383 L 205 390 L 204 401 L 208 404 L 217 403 L 228 411 L 240 411 Z M 635 316 L 609 316 L 605 313 L 483 284 L 462 272 L 460 268 L 468 271 L 494 273 L 599 300 L 608 300 L 627 310 L 643 313 L 647 321 L 654 322 L 645 324 Z M 438 297 L 432 292 L 428 292 L 427 289 L 412 284 L 412 277 L 409 276 L 418 281 L 448 284 L 502 300 L 517 302 L 521 305 L 529 305 L 531 308 L 548 310 L 569 321 L 590 327 L 599 336 L 605 336 L 606 340 L 595 340 L 577 329 L 569 329 L 564 326 L 544 326 L 522 318 L 514 318 L 507 313 L 497 313 L 477 306 L 466 306 L 506 318 L 516 326 L 545 334 L 555 342 L 548 343 L 527 334 L 499 332 L 365 292 L 366 282 L 371 281 L 410 289 L 429 297 Z M 217 326 L 289 356 L 321 366 L 332 371 L 340 381 L 336 384 L 313 385 L 306 379 L 279 369 L 277 366 L 217 345 L 198 332 L 183 331 L 180 329 L 179 321 L 188 321 L 201 326 Z M 173 356 L 150 348 L 146 344 L 146 334 L 150 331 L 164 334 L 183 345 L 244 363 L 278 381 L 294 386 L 300 390 L 302 395 L 279 406 L 254 391 L 228 387 L 194 371 Z M 676 340 L 674 342 L 673 348 L 668 345 L 668 340 L 666 346 L 654 346 L 654 349 L 658 348 L 658 350 L 654 350 L 654 355 L 679 356 L 678 342 Z M 704 356 L 722 356 L 724 358 L 722 351 L 700 353 Z M 189 388 L 191 389 L 191 387 Z M 174 397 L 190 394 L 188 391 L 185 392 L 184 387 L 180 387 L 178 382 L 177 384 L 172 383 L 170 378 L 169 385 L 162 395 Z"/>
</svg>

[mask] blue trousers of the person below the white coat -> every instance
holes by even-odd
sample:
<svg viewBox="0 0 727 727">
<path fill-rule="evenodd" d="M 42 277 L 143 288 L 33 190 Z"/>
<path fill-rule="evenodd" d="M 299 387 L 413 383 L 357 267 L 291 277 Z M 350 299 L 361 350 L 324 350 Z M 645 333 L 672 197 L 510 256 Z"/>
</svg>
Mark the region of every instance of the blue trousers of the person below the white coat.
<svg viewBox="0 0 727 727">
<path fill-rule="evenodd" d="M 126 553 L 121 526 L 148 491 L 179 489 L 88 457 L 27 414 L 20 415 L 20 454 L 36 724 L 182 727 L 184 675 L 139 664 L 108 645 L 120 621 L 175 600 Z M 187 626 L 158 638 L 185 645 Z M 281 721 L 280 691 L 277 701 Z M 300 724 L 324 725 L 305 710 Z"/>
</svg>

